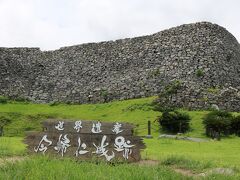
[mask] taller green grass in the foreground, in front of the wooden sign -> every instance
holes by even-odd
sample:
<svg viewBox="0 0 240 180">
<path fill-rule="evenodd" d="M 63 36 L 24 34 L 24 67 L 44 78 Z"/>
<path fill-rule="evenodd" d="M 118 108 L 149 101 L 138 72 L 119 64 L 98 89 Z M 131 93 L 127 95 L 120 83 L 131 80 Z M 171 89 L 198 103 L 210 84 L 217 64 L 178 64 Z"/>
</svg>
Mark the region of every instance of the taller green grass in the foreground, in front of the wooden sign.
<svg viewBox="0 0 240 180">
<path fill-rule="evenodd" d="M 0 179 L 190 179 L 164 166 L 76 162 L 35 156 L 0 166 Z"/>
</svg>

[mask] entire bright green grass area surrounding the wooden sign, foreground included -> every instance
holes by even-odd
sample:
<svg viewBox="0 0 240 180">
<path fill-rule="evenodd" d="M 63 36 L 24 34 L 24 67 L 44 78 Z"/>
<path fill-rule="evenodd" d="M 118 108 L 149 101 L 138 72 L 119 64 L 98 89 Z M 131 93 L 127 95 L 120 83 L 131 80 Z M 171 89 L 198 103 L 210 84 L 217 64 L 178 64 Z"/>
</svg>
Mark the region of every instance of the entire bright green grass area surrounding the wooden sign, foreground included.
<svg viewBox="0 0 240 180">
<path fill-rule="evenodd" d="M 209 175 L 208 178 L 240 179 L 239 137 L 230 136 L 221 141 L 212 141 L 205 136 L 202 125 L 202 117 L 208 112 L 181 110 L 192 117 L 191 131 L 184 135 L 204 138 L 207 142 L 158 139 L 158 123 L 154 121 L 160 113 L 153 111 L 150 106 L 154 98 L 88 105 L 0 104 L 0 116 L 6 116 L 12 120 L 11 124 L 5 128 L 5 137 L 0 138 L 1 157 L 26 156 L 25 145 L 22 143 L 25 132 L 40 131 L 41 122 L 47 118 L 130 122 L 137 125 L 135 129 L 137 135 L 146 135 L 147 121 L 150 120 L 154 138 L 144 139 L 147 148 L 142 152 L 142 158 L 157 160 L 160 163 L 160 165 L 144 167 L 133 164 L 110 166 L 102 163 L 79 164 L 70 159 L 57 160 L 31 156 L 23 162 L 0 166 L 0 179 L 24 179 L 26 175 L 28 179 L 34 179 L 34 177 L 44 179 L 44 172 L 48 172 L 49 179 L 56 179 L 58 176 L 61 177 L 60 179 L 79 179 L 80 172 L 87 172 L 81 179 L 96 177 L 121 179 L 123 174 L 124 179 L 186 179 L 187 176 L 179 175 L 172 169 L 183 168 L 201 173 L 216 167 L 232 168 L 235 175 Z M 37 168 L 38 166 L 40 168 Z M 49 168 L 54 170 L 49 171 Z M 106 174 L 108 174 L 107 177 Z"/>
</svg>

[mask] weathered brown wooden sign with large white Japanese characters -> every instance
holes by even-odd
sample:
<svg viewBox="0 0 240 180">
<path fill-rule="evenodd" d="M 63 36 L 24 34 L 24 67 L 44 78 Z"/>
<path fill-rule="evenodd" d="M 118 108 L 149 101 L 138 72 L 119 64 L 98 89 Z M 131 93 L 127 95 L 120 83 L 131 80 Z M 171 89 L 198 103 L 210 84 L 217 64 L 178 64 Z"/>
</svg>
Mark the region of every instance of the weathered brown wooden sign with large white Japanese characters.
<svg viewBox="0 0 240 180">
<path fill-rule="evenodd" d="M 29 133 L 25 142 L 30 153 L 135 162 L 141 159 L 145 145 L 133 135 L 133 128 L 119 122 L 47 120 L 43 131 Z"/>
</svg>

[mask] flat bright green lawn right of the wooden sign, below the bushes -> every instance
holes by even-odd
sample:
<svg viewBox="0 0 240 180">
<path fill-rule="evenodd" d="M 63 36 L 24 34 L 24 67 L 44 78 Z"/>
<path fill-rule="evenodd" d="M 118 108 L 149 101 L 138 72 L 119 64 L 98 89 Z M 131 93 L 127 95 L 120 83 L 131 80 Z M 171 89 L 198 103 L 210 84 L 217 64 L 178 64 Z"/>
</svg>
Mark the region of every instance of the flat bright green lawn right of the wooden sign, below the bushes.
<svg viewBox="0 0 240 180">
<path fill-rule="evenodd" d="M 147 149 L 142 153 L 145 159 L 164 161 L 177 156 L 209 163 L 215 167 L 240 167 L 240 138 L 225 138 L 221 141 L 191 142 L 174 139 L 145 139 Z"/>
</svg>

